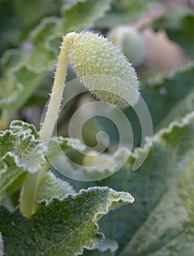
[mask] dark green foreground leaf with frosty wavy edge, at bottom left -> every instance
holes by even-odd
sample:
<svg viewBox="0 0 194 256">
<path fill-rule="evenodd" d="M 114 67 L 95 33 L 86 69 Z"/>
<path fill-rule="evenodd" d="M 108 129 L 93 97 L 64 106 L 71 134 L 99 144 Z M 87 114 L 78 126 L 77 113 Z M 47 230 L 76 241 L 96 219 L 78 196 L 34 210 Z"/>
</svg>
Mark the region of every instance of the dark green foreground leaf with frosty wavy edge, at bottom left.
<svg viewBox="0 0 194 256">
<path fill-rule="evenodd" d="M 80 255 L 104 238 L 98 219 L 128 203 L 133 203 L 128 193 L 93 187 L 63 200 L 44 200 L 30 218 L 0 206 L 5 255 Z"/>
</svg>

